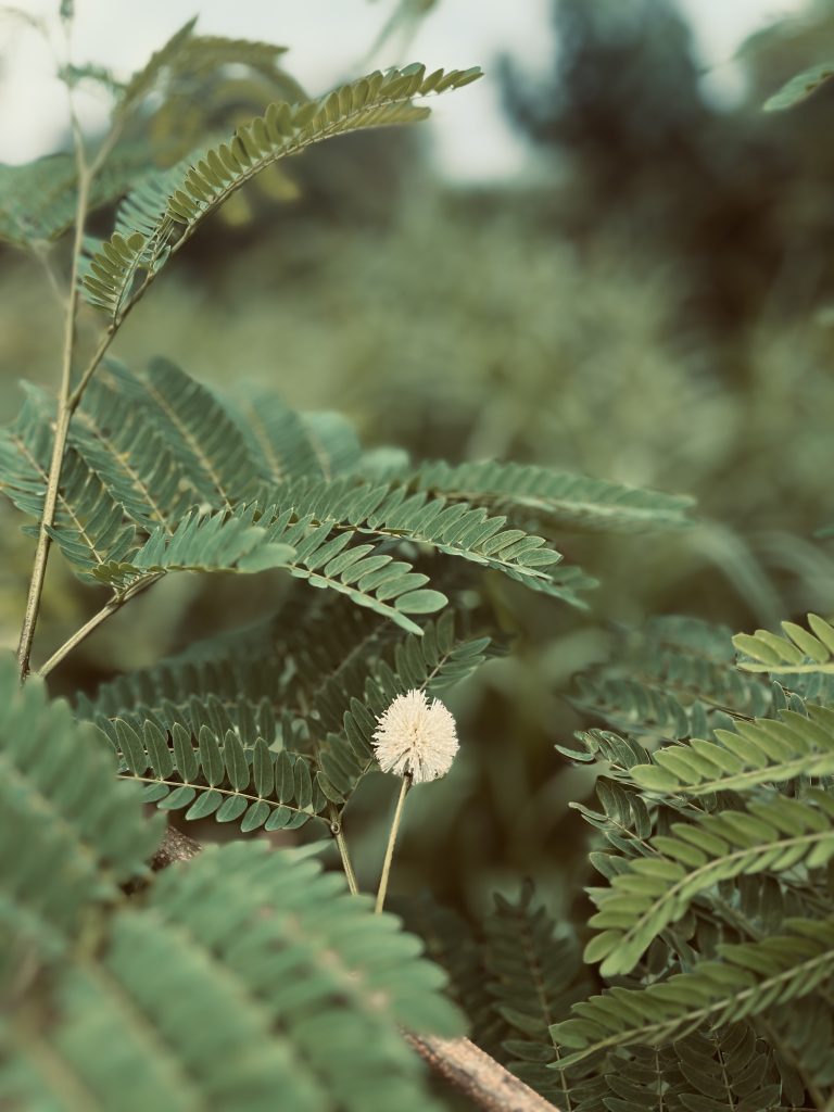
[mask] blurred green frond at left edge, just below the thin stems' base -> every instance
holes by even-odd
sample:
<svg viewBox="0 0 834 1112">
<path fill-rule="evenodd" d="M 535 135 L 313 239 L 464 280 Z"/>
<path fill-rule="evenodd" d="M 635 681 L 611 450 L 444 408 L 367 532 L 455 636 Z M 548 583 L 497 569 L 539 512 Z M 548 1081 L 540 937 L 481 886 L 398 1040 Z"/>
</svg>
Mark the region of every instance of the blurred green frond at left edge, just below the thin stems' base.
<svg viewBox="0 0 834 1112">
<path fill-rule="evenodd" d="M 69 945 L 158 842 L 93 735 L 39 679 L 21 688 L 12 654 L 0 654 L 0 977 L 32 947 Z"/>
</svg>

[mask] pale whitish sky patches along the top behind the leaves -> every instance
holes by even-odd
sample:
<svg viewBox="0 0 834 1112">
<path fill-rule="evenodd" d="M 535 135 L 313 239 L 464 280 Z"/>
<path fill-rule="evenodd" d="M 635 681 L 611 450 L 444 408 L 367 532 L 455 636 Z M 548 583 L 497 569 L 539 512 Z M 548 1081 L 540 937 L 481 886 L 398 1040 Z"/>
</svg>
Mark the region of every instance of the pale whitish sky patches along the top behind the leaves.
<svg viewBox="0 0 834 1112">
<path fill-rule="evenodd" d="M 588 0 L 589 3 L 594 0 Z M 744 39 L 803 0 L 678 0 L 693 24 L 705 89 L 732 100 L 739 90 L 733 56 Z M 27 16 L 54 20 L 59 0 L 18 0 Z M 553 53 L 549 0 L 439 0 L 405 47 L 390 40 L 367 66 L 367 51 L 395 0 L 76 0 L 73 61 L 106 63 L 119 76 L 138 69 L 155 49 L 199 13 L 198 31 L 264 39 L 290 48 L 287 69 L 318 95 L 360 68 L 407 61 L 429 69 L 480 64 L 487 78 L 433 101 L 429 123 L 440 170 L 460 180 L 513 177 L 530 157 L 500 111 L 490 64 L 508 53 L 528 72 Z M 66 129 L 66 93 L 40 37 L 0 13 L 0 161 L 23 162 L 56 149 Z M 88 126 L 103 119 L 87 97 Z"/>
</svg>

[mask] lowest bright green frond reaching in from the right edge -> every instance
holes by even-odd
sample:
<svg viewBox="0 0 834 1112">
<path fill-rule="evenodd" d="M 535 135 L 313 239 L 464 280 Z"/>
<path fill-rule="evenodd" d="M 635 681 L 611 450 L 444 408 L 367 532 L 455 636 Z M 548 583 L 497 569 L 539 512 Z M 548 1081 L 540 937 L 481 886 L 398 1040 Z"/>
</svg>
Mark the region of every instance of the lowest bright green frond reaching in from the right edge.
<svg viewBox="0 0 834 1112">
<path fill-rule="evenodd" d="M 663 1045 L 701 1027 L 739 1022 L 813 993 L 834 973 L 834 924 L 791 919 L 784 934 L 721 944 L 718 961 L 698 962 L 646 989 L 614 987 L 575 1004 L 552 1029 L 569 1068 L 614 1046 Z"/>
</svg>

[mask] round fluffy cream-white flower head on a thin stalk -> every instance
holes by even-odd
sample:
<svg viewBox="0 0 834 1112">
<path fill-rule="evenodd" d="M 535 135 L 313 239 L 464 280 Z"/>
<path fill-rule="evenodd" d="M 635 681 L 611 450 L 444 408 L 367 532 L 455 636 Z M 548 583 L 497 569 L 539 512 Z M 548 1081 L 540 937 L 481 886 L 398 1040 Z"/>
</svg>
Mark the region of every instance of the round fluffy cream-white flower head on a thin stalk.
<svg viewBox="0 0 834 1112">
<path fill-rule="evenodd" d="M 377 719 L 374 749 L 383 772 L 410 774 L 415 784 L 445 776 L 457 753 L 455 719 L 439 699 L 425 692 L 397 695 Z"/>
</svg>

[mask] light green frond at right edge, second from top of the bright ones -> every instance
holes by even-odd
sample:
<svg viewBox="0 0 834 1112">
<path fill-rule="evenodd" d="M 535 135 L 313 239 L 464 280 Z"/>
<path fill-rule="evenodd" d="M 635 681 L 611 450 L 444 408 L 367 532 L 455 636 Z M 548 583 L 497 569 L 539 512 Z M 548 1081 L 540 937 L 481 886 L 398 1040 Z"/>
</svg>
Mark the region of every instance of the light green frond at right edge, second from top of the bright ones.
<svg viewBox="0 0 834 1112">
<path fill-rule="evenodd" d="M 704 796 L 742 792 L 759 784 L 781 784 L 797 776 L 834 774 L 834 709 L 807 706 L 805 713 L 781 711 L 778 718 L 736 722 L 718 729 L 714 742 L 693 738 L 687 745 L 656 749 L 652 764 L 631 775 L 648 792 L 685 792 Z"/>
</svg>

